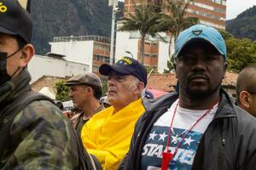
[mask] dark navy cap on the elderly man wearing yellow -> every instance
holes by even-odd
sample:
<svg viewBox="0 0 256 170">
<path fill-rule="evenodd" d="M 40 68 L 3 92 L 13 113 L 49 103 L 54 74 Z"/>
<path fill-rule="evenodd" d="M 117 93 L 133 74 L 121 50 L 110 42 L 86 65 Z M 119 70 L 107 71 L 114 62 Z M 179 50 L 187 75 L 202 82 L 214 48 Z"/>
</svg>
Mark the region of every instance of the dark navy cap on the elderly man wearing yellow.
<svg viewBox="0 0 256 170">
<path fill-rule="evenodd" d="M 114 65 L 103 64 L 100 66 L 99 71 L 102 75 L 108 76 L 110 71 L 116 71 L 123 75 L 133 75 L 137 77 L 141 82 L 144 82 L 144 86 L 147 85 L 147 70 L 137 61 L 130 57 L 123 57 L 119 59 Z"/>
</svg>

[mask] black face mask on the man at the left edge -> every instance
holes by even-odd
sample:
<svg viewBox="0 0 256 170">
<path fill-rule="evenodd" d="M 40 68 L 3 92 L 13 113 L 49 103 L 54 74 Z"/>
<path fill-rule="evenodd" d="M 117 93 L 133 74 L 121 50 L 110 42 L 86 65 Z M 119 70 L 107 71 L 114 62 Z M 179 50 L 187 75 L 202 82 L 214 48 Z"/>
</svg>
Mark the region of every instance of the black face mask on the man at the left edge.
<svg viewBox="0 0 256 170">
<path fill-rule="evenodd" d="M 7 56 L 7 53 L 5 52 L 0 52 L 0 86 L 4 82 L 8 82 L 12 78 L 12 76 L 9 76 L 9 74 L 7 73 L 7 59 L 15 55 L 18 51 L 20 51 L 20 48 L 17 51 L 15 51 L 14 54 L 10 54 L 9 56 Z M 18 67 L 18 69 L 19 68 L 20 67 Z M 18 69 L 16 71 L 18 71 Z M 15 75 L 15 73 L 13 75 Z"/>
</svg>

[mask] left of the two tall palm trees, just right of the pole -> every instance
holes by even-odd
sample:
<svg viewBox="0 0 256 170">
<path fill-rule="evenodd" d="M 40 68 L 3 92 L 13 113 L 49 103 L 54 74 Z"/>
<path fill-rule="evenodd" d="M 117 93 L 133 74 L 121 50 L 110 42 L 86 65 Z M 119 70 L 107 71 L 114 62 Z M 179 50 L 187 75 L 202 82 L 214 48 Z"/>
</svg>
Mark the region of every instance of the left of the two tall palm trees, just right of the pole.
<svg viewBox="0 0 256 170">
<path fill-rule="evenodd" d="M 120 26 L 119 31 L 139 31 L 141 35 L 140 50 L 141 63 L 144 63 L 144 48 L 145 37 L 157 35 L 156 22 L 159 15 L 155 13 L 155 5 L 148 3 L 147 0 L 140 0 L 140 3 L 133 3 L 134 13 L 129 13 L 128 17 L 124 18 L 123 26 Z"/>
</svg>

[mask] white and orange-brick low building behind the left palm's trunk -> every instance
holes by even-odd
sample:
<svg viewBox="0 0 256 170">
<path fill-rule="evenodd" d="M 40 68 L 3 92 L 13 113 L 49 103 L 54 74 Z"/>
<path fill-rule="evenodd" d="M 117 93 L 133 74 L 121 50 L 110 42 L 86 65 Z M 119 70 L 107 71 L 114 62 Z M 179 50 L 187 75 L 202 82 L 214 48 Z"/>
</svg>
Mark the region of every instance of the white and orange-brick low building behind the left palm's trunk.
<svg viewBox="0 0 256 170">
<path fill-rule="evenodd" d="M 122 23 L 118 22 L 117 27 L 119 27 L 119 25 L 122 25 Z M 165 33 L 161 36 L 166 37 Z M 140 34 L 137 31 L 117 31 L 115 60 L 121 59 L 123 56 L 130 56 L 140 60 L 140 41 Z M 168 47 L 169 43 L 167 37 L 166 42 L 164 42 L 157 37 L 153 38 L 147 36 L 144 46 L 144 65 L 155 71 L 163 72 L 167 69 Z"/>
</svg>

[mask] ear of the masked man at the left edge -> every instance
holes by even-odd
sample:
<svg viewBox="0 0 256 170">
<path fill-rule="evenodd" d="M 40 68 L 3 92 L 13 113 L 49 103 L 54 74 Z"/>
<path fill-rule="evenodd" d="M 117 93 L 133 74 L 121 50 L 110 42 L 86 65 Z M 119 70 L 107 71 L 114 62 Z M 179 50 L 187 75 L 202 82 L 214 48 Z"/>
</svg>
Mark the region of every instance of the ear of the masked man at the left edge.
<svg viewBox="0 0 256 170">
<path fill-rule="evenodd" d="M 32 59 L 32 56 L 35 54 L 35 48 L 32 44 L 28 43 L 21 49 L 20 56 L 20 67 L 24 68 L 28 62 Z"/>
</svg>

